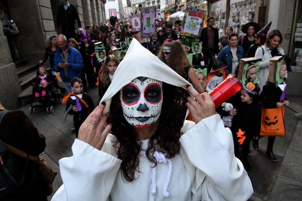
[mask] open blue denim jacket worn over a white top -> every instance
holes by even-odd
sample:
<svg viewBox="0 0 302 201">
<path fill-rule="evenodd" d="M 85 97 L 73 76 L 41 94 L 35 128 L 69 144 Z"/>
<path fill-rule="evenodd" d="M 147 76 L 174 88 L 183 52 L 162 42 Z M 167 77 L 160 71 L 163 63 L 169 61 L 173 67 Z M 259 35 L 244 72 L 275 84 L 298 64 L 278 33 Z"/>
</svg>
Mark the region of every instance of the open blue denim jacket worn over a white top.
<svg viewBox="0 0 302 201">
<path fill-rule="evenodd" d="M 238 57 L 239 63 L 240 63 L 240 59 L 245 58 L 244 51 L 243 51 L 243 48 L 241 46 L 237 45 L 236 55 Z M 228 45 L 228 46 L 226 46 L 226 47 L 224 47 L 223 49 L 220 50 L 217 59 L 219 61 L 222 61 L 223 63 L 225 63 L 227 65 L 227 68 L 225 68 L 226 74 L 232 73 L 233 55 L 232 55 L 232 52 L 231 52 L 230 45 Z M 238 66 L 239 66 L 239 64 L 238 64 Z M 236 68 L 238 68 L 238 66 Z"/>
</svg>

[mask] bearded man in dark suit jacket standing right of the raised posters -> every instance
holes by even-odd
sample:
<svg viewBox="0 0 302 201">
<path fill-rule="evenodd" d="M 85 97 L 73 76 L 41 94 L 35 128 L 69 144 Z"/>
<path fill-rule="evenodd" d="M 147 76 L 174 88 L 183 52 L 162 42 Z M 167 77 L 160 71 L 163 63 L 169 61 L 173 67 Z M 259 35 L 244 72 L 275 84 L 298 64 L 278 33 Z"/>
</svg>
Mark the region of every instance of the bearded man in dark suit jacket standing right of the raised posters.
<svg viewBox="0 0 302 201">
<path fill-rule="evenodd" d="M 218 29 L 213 27 L 214 18 L 207 18 L 207 27 L 201 30 L 200 39 L 202 41 L 202 54 L 204 55 L 204 65 L 207 66 L 207 72 L 212 69 L 212 55 L 218 54 L 219 36 Z"/>
</svg>

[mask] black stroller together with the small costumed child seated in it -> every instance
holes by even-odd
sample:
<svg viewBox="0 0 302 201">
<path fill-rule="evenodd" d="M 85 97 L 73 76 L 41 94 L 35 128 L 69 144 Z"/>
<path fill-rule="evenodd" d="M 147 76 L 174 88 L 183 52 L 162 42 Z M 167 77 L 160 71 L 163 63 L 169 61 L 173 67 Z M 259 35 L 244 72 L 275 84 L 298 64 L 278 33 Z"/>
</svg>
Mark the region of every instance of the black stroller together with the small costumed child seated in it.
<svg viewBox="0 0 302 201">
<path fill-rule="evenodd" d="M 48 113 L 54 112 L 54 101 L 56 100 L 58 103 L 62 102 L 62 98 L 59 98 L 58 87 L 56 85 L 57 83 L 52 71 L 47 70 L 45 66 L 40 66 L 37 71 L 37 77 L 32 84 L 34 97 L 29 108 L 31 113 L 37 113 L 40 106 L 46 106 Z M 34 104 L 35 102 L 39 102 L 40 104 Z"/>
</svg>

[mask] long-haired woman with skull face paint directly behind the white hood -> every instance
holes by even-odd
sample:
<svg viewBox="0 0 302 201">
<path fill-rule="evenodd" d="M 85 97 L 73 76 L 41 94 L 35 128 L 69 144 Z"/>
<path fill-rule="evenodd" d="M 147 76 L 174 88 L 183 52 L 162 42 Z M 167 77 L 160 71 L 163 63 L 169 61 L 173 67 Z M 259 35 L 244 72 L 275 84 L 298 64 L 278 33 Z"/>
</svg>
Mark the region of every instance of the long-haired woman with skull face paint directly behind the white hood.
<svg viewBox="0 0 302 201">
<path fill-rule="evenodd" d="M 185 49 L 180 41 L 170 41 L 162 45 L 157 57 L 181 75 L 185 80 L 190 80 L 194 88 L 199 92 L 204 92 L 204 87 L 199 83 L 194 68 L 190 65 Z"/>
</svg>

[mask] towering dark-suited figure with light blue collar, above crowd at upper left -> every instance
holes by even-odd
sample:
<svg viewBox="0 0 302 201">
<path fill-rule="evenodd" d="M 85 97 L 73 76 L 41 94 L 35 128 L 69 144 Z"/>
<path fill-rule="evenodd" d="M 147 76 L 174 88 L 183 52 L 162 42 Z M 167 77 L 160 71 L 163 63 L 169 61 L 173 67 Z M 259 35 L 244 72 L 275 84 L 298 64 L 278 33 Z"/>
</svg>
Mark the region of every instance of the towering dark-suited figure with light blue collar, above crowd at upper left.
<svg viewBox="0 0 302 201">
<path fill-rule="evenodd" d="M 60 0 L 60 2 L 62 5 L 58 6 L 57 26 L 62 26 L 62 33 L 67 39 L 75 38 L 75 20 L 77 20 L 78 26 L 82 27 L 76 6 L 66 0 Z"/>
</svg>

